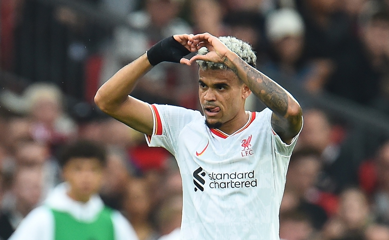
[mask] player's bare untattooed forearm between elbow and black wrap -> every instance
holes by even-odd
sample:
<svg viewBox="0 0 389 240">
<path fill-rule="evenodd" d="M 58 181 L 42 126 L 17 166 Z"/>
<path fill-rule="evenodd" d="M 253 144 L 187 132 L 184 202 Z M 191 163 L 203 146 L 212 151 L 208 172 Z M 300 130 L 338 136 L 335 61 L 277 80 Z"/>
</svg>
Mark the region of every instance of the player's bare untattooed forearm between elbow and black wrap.
<svg viewBox="0 0 389 240">
<path fill-rule="evenodd" d="M 134 89 L 138 79 L 151 67 L 147 55 L 143 54 L 137 60 L 121 68 L 98 89 L 95 103 L 102 110 L 119 107 L 128 100 L 128 95 Z"/>
</svg>

